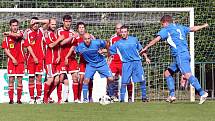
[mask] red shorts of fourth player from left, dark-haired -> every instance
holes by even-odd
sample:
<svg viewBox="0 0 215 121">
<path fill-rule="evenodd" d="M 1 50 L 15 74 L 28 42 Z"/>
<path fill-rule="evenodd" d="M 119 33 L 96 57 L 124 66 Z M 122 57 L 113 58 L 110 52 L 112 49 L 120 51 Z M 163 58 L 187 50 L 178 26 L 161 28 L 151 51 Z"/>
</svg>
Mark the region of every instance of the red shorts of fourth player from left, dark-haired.
<svg viewBox="0 0 215 121">
<path fill-rule="evenodd" d="M 69 59 L 69 64 L 65 65 L 64 61 L 60 62 L 60 73 L 75 73 L 78 72 L 78 63 L 76 59 Z"/>
</svg>

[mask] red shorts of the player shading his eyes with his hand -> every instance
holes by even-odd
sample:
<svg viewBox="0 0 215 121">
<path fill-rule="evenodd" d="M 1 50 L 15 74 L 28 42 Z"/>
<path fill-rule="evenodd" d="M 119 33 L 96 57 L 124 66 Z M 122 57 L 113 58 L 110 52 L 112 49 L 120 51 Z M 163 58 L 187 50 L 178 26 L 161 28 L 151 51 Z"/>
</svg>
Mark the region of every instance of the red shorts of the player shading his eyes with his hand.
<svg viewBox="0 0 215 121">
<path fill-rule="evenodd" d="M 35 74 L 43 74 L 43 63 L 39 62 L 38 64 L 35 64 L 34 62 L 29 62 L 27 64 L 28 67 L 28 74 L 29 76 L 35 76 Z"/>
</svg>

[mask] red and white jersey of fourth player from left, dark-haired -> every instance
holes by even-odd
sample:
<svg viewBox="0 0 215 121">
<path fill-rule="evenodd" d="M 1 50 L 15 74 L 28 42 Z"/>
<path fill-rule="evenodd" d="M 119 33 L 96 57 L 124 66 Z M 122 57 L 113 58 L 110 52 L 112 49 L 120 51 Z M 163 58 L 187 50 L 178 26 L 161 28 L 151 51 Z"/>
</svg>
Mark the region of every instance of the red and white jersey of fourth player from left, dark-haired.
<svg viewBox="0 0 215 121">
<path fill-rule="evenodd" d="M 58 30 L 58 37 L 61 35 L 64 35 L 65 39 L 69 38 L 70 36 L 73 36 L 75 34 L 75 32 L 70 29 L 70 30 L 65 30 L 63 27 L 59 28 Z M 60 51 L 60 58 L 61 61 L 64 61 L 66 55 L 68 54 L 70 48 L 72 46 L 77 46 L 78 44 L 78 40 L 77 39 L 73 39 L 72 42 L 66 43 L 64 45 L 61 45 L 61 51 Z M 73 53 L 70 56 L 70 59 L 75 59 L 75 52 L 73 51 Z"/>
</svg>

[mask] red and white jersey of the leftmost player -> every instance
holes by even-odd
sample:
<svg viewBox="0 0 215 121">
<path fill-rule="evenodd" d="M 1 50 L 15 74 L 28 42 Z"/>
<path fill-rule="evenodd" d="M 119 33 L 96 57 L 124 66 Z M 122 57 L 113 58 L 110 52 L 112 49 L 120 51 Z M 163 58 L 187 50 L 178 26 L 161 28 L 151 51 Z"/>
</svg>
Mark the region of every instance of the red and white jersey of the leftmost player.
<svg viewBox="0 0 215 121">
<path fill-rule="evenodd" d="M 18 63 L 23 63 L 25 61 L 24 58 L 24 51 L 23 51 L 23 44 L 24 41 L 22 40 L 23 32 L 19 31 L 22 36 L 19 38 L 7 36 L 2 41 L 2 48 L 8 49 L 11 55 L 17 60 Z M 10 60 L 10 58 L 8 58 Z M 12 60 L 11 60 L 12 61 Z"/>
</svg>

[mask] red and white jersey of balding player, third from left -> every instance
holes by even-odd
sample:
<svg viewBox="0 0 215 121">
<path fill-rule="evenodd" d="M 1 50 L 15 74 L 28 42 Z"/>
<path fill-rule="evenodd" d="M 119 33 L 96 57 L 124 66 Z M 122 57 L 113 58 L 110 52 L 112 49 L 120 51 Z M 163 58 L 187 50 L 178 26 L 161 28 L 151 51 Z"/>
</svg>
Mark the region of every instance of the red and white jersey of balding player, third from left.
<svg viewBox="0 0 215 121">
<path fill-rule="evenodd" d="M 47 45 L 46 49 L 46 64 L 56 64 L 56 59 L 58 58 L 59 45 L 50 48 L 48 45 L 57 40 L 57 34 L 54 31 L 48 31 L 47 36 L 45 37 L 45 44 Z"/>
</svg>

